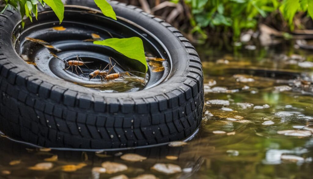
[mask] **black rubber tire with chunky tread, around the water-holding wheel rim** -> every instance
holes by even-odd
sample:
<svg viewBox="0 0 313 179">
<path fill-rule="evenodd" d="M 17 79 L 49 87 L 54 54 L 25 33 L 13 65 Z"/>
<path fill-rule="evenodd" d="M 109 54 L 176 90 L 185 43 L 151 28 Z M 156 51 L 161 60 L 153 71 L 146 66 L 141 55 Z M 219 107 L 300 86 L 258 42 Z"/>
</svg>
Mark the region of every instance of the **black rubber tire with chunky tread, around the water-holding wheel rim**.
<svg viewBox="0 0 313 179">
<path fill-rule="evenodd" d="M 68 4 L 96 8 L 93 0 Z M 118 16 L 160 39 L 172 56 L 162 84 L 138 92 L 101 93 L 51 78 L 23 62 L 12 46 L 18 12 L 0 14 L 0 130 L 44 147 L 124 148 L 182 140 L 200 125 L 203 71 L 199 56 L 170 24 L 116 1 Z"/>
</svg>

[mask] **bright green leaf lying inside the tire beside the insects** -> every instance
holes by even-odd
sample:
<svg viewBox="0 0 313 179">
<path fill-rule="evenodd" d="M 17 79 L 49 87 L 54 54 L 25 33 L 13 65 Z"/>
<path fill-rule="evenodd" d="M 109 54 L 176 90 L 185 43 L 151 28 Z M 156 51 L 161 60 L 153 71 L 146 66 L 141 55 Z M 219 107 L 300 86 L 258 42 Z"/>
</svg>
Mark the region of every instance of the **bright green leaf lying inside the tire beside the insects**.
<svg viewBox="0 0 313 179">
<path fill-rule="evenodd" d="M 95 41 L 94 44 L 111 47 L 112 49 L 120 52 L 128 58 L 140 61 L 143 65 L 146 66 L 145 72 L 147 72 L 148 66 L 145 56 L 145 50 L 143 48 L 142 40 L 139 37 L 124 39 L 111 38 L 102 41 Z"/>
</svg>

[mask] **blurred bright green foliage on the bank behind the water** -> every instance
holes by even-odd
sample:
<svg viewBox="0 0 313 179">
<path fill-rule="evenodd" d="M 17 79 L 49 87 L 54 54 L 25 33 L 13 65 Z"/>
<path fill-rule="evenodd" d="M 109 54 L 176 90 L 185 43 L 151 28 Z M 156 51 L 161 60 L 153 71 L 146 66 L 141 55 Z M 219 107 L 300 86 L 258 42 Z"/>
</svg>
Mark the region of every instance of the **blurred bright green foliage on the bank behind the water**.
<svg viewBox="0 0 313 179">
<path fill-rule="evenodd" d="M 296 13 L 307 13 L 313 18 L 313 0 L 185 0 L 190 6 L 192 33 L 206 38 L 205 28 L 213 31 L 232 31 L 238 39 L 244 29 L 255 29 L 262 19 L 281 13 L 294 29 Z M 282 20 L 284 20 L 282 19 Z"/>
</svg>

